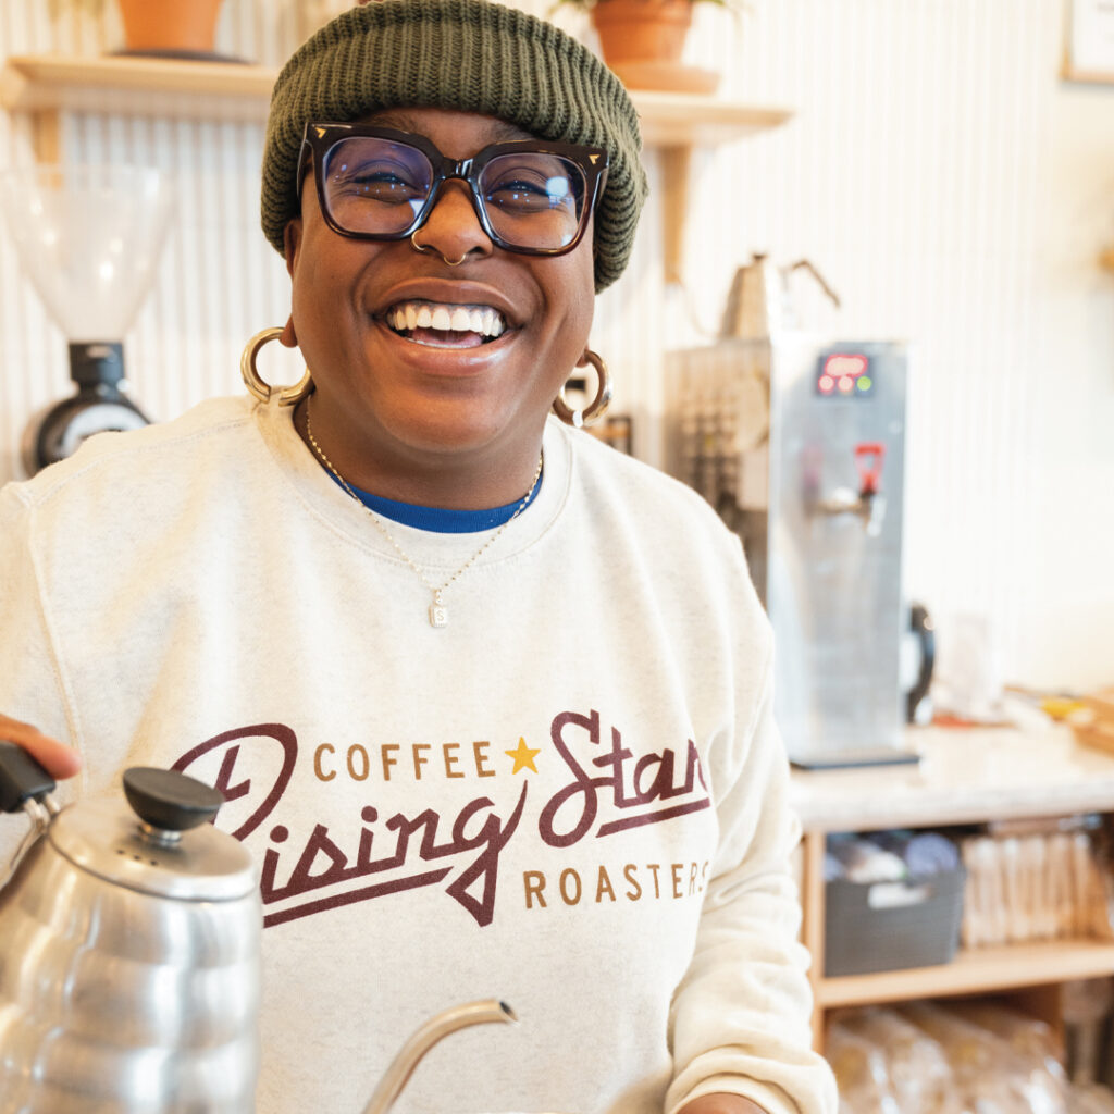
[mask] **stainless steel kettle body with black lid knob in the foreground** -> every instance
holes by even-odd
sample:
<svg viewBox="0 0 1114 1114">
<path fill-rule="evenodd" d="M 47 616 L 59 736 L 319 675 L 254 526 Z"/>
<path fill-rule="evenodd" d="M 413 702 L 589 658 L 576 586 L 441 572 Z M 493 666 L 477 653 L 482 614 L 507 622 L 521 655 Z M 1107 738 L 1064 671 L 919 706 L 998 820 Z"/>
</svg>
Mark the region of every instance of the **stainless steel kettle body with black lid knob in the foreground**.
<svg viewBox="0 0 1114 1114">
<path fill-rule="evenodd" d="M 223 798 L 137 768 L 124 801 L 59 809 L 0 743 L 0 809 L 32 828 L 0 888 L 0 1110 L 251 1114 L 258 881 Z"/>
</svg>

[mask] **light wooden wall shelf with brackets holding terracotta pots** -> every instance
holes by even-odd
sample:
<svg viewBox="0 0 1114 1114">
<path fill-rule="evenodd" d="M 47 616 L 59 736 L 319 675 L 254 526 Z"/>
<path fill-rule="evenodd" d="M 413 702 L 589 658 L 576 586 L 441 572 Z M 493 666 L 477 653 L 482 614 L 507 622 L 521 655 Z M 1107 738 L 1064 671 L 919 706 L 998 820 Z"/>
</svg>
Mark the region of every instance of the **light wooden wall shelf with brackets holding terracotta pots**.
<svg viewBox="0 0 1114 1114">
<path fill-rule="evenodd" d="M 62 155 L 63 113 L 263 123 L 277 70 L 237 62 L 21 56 L 0 70 L 0 105 L 32 118 L 35 157 Z M 633 90 L 647 147 L 661 152 L 666 281 L 680 278 L 690 153 L 780 127 L 792 113 L 690 92 Z"/>
</svg>

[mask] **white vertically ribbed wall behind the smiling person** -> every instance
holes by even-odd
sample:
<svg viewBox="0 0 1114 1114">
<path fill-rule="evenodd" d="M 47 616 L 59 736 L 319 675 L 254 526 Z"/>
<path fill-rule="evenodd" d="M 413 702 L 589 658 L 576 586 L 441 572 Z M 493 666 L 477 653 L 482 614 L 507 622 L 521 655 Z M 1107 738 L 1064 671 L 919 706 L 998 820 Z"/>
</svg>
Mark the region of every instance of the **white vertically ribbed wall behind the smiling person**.
<svg viewBox="0 0 1114 1114">
<path fill-rule="evenodd" d="M 662 352 L 709 340 L 753 251 L 810 258 L 843 310 L 802 290 L 808 323 L 916 345 L 906 584 L 941 651 L 980 625 L 998 680 L 1083 690 L 1114 684 L 1114 275 L 1097 262 L 1114 246 L 1114 86 L 1059 78 L 1065 2 L 697 6 L 690 60 L 723 74 L 724 94 L 795 115 L 696 153 L 683 289 L 662 284 L 652 198 L 593 346 L 657 462 Z M 217 48 L 277 66 L 345 6 L 226 0 Z M 590 41 L 579 12 L 555 18 Z M 0 55 L 120 45 L 114 0 L 0 0 Z M 65 118 L 74 160 L 176 176 L 158 280 L 126 338 L 134 395 L 157 419 L 241 390 L 244 341 L 289 311 L 258 232 L 262 133 Z M 0 114 L 0 159 L 31 162 L 25 119 Z M 653 152 L 647 166 L 656 185 Z M 0 481 L 20 475 L 31 414 L 71 390 L 65 339 L 13 256 L 0 232 Z"/>
</svg>

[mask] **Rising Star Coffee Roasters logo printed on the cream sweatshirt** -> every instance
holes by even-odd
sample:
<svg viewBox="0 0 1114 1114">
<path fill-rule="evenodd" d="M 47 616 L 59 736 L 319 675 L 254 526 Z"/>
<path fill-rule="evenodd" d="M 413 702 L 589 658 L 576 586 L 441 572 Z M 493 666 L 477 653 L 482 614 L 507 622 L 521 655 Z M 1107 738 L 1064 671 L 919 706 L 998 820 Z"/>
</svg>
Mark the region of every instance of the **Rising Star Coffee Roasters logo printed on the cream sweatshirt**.
<svg viewBox="0 0 1114 1114">
<path fill-rule="evenodd" d="M 551 778 L 547 764 L 557 764 L 561 784 L 556 791 L 547 789 L 548 798 L 540 800 L 537 834 L 524 829 L 521 838 L 540 838 L 550 848 L 607 840 L 711 808 L 691 740 L 680 750 L 644 746 L 636 754 L 617 727 L 605 732 L 599 712 L 593 710 L 587 715 L 556 715 L 550 743 L 551 749 L 530 746 L 520 737 L 514 746 L 487 741 L 377 747 L 321 743 L 303 750 L 291 727 L 264 723 L 206 740 L 183 754 L 174 769 L 195 772 L 224 793 L 241 818 L 233 836 L 244 840 L 260 833 L 266 840 L 261 864 L 265 927 L 433 886 L 482 927 L 495 917 L 501 853 L 522 824 L 531 791 L 539 792 L 530 775 L 545 770 Z M 358 822 L 343 818 L 332 829 L 319 822 L 304 838 L 292 836 L 282 805 L 300 762 L 312 764 L 321 782 L 369 783 Z M 400 778 L 476 779 L 482 785 L 482 779 L 496 776 L 521 781 L 504 812 L 482 793 L 447 814 L 433 808 L 383 814 L 377 808 L 377 788 Z M 546 780 L 547 786 L 551 783 Z M 674 898 L 698 893 L 707 864 L 625 863 L 613 869 L 616 881 L 623 879 L 619 892 L 625 899 L 639 900 L 652 892 L 661 897 L 663 890 Z M 524 882 L 527 907 L 546 908 L 545 873 L 526 871 Z M 553 880 L 550 896 L 575 905 L 585 885 L 577 871 L 566 869 Z M 590 886 L 597 901 L 617 900 L 606 867 L 593 873 Z"/>
</svg>

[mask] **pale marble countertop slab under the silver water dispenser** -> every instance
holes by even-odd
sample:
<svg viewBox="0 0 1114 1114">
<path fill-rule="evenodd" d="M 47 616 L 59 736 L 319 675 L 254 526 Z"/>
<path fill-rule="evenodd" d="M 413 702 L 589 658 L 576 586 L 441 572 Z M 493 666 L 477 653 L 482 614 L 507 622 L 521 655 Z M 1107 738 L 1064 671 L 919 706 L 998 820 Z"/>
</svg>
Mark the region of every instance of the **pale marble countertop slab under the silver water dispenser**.
<svg viewBox="0 0 1114 1114">
<path fill-rule="evenodd" d="M 1114 755 L 1069 727 L 910 727 L 916 765 L 794 770 L 804 829 L 868 831 L 1114 811 Z"/>
</svg>

